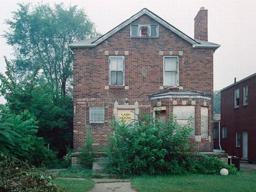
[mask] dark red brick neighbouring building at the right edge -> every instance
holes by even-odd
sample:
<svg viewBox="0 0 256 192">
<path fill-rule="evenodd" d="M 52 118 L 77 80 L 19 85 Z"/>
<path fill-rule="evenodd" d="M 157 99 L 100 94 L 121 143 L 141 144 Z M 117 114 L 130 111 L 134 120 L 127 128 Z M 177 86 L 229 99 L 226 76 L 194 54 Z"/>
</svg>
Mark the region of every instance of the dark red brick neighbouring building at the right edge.
<svg viewBox="0 0 256 192">
<path fill-rule="evenodd" d="M 221 90 L 221 147 L 256 162 L 256 73 Z"/>
</svg>

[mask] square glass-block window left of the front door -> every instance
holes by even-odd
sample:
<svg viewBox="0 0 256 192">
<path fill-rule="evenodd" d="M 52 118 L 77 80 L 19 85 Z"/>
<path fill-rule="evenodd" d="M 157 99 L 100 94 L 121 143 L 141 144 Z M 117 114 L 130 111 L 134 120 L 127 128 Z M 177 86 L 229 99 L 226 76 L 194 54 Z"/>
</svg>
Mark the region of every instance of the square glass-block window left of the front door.
<svg viewBox="0 0 256 192">
<path fill-rule="evenodd" d="M 104 107 L 90 107 L 89 108 L 89 122 L 90 123 L 104 123 L 105 108 Z"/>
</svg>

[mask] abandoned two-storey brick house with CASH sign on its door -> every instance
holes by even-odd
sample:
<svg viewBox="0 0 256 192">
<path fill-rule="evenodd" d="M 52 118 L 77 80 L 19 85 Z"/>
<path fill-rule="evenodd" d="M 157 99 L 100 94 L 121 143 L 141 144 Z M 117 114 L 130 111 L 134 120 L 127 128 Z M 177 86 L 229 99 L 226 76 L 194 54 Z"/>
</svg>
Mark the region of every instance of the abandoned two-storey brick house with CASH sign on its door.
<svg viewBox="0 0 256 192">
<path fill-rule="evenodd" d="M 144 8 L 102 35 L 70 44 L 74 58 L 74 149 L 85 128 L 104 146 L 113 120 L 138 113 L 179 123 L 194 117 L 195 150 L 213 150 L 213 54 L 207 10 L 195 17 L 195 39 Z M 158 111 L 158 112 L 157 112 Z"/>
</svg>

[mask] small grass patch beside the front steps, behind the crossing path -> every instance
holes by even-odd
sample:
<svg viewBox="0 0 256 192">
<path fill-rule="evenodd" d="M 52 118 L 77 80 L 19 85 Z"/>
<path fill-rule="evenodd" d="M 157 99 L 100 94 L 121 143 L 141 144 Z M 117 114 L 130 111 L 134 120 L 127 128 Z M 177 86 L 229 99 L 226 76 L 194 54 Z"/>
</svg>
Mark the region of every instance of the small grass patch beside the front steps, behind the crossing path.
<svg viewBox="0 0 256 192">
<path fill-rule="evenodd" d="M 60 171 L 61 177 L 72 177 L 72 178 L 100 178 L 100 175 L 96 175 L 93 170 L 87 169 L 81 166 L 68 167 L 67 170 Z"/>
</svg>

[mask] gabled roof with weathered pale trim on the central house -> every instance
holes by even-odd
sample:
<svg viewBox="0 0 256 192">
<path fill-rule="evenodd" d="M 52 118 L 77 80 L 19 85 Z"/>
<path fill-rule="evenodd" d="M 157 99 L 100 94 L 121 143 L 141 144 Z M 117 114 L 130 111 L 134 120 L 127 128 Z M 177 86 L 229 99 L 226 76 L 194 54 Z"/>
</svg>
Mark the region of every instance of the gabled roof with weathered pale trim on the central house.
<svg viewBox="0 0 256 192">
<path fill-rule="evenodd" d="M 189 37 L 185 33 L 182 33 L 176 27 L 170 25 L 170 23 L 166 22 L 165 20 L 163 20 L 159 16 L 155 15 L 153 12 L 144 8 L 143 10 L 139 11 L 138 13 L 133 15 L 131 18 L 125 20 L 123 23 L 121 23 L 120 25 L 118 25 L 114 29 L 110 30 L 108 33 L 102 35 L 101 37 L 96 37 L 96 38 L 92 38 L 92 39 L 86 39 L 86 40 L 83 40 L 83 41 L 75 42 L 75 43 L 69 44 L 69 47 L 70 48 L 95 47 L 98 44 L 100 44 L 101 42 L 105 41 L 110 36 L 112 36 L 113 34 L 117 33 L 117 31 L 123 29 L 125 26 L 129 25 L 131 22 L 138 19 L 140 16 L 142 16 L 144 14 L 150 16 L 152 19 L 156 20 L 158 23 L 162 24 L 167 29 L 169 29 L 173 33 L 175 33 L 178 36 L 180 36 L 181 38 L 183 38 L 185 41 L 192 44 L 192 46 L 194 48 L 212 48 L 212 49 L 216 50 L 220 46 L 218 44 L 210 43 L 210 42 L 207 42 L 207 41 L 200 41 L 200 40 L 192 39 L 191 37 Z"/>
</svg>

